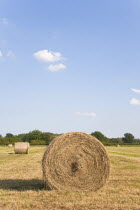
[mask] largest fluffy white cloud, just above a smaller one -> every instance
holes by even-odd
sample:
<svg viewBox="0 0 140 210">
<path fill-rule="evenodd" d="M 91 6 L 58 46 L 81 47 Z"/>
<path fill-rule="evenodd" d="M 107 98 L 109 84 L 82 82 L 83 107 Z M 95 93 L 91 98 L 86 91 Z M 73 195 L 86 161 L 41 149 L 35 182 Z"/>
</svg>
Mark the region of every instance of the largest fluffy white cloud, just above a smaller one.
<svg viewBox="0 0 140 210">
<path fill-rule="evenodd" d="M 40 50 L 35 52 L 33 56 L 42 62 L 57 62 L 63 59 L 60 52 L 53 52 L 49 50 Z"/>
</svg>

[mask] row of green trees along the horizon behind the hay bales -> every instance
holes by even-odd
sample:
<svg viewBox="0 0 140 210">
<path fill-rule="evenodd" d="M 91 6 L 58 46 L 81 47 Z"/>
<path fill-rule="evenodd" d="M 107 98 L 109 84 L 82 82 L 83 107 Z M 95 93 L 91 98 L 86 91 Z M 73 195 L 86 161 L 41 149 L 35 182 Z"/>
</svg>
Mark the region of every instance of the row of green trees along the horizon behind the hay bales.
<svg viewBox="0 0 140 210">
<path fill-rule="evenodd" d="M 7 133 L 4 137 L 0 135 L 0 145 L 14 144 L 15 142 L 29 142 L 32 145 L 48 145 L 56 136 L 61 134 L 54 134 L 50 132 L 41 132 L 33 130 L 29 133 L 13 135 Z M 104 145 L 122 145 L 122 144 L 140 144 L 140 139 L 136 139 L 133 134 L 125 133 L 121 138 L 108 138 L 99 131 L 91 133 Z"/>
</svg>

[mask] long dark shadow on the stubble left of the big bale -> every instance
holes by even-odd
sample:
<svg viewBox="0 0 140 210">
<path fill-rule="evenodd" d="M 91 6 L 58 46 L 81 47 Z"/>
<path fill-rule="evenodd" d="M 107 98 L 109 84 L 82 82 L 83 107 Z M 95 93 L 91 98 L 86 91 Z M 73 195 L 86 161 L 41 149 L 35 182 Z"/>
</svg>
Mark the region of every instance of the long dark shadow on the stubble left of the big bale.
<svg viewBox="0 0 140 210">
<path fill-rule="evenodd" d="M 26 191 L 26 190 L 43 190 L 43 181 L 39 179 L 5 179 L 0 180 L 0 189 L 3 190 L 16 190 L 16 191 Z"/>
</svg>

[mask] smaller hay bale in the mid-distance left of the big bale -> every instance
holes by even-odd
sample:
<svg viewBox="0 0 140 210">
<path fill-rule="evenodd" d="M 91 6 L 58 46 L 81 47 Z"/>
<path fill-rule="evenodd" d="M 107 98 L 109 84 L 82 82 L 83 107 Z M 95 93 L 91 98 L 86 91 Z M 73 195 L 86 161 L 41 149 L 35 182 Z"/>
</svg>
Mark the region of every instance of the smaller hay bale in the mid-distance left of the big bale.
<svg viewBox="0 0 140 210">
<path fill-rule="evenodd" d="M 30 144 L 28 142 L 16 142 L 15 154 L 28 154 Z"/>
</svg>

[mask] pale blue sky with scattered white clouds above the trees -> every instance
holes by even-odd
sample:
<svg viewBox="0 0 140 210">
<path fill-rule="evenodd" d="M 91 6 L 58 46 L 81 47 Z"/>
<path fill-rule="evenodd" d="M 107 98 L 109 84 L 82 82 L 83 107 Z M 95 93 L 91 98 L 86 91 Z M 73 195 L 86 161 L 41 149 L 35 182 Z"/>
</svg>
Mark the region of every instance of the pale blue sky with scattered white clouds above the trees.
<svg viewBox="0 0 140 210">
<path fill-rule="evenodd" d="M 140 138 L 139 0 L 0 0 L 0 134 Z"/>
</svg>

